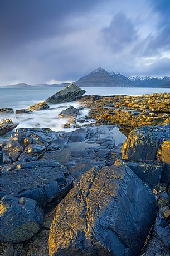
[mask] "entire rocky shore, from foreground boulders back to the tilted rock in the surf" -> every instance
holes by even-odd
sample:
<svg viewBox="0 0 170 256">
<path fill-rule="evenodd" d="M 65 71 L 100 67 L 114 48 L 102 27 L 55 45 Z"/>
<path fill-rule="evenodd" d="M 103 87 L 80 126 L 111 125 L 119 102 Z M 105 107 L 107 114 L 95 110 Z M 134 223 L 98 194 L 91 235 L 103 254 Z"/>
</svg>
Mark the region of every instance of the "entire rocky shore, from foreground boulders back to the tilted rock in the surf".
<svg viewBox="0 0 170 256">
<path fill-rule="evenodd" d="M 16 128 L 0 109 L 0 136 L 16 128 L 0 148 L 0 255 L 170 255 L 170 94 L 84 93 L 17 110 L 79 101 L 59 113 L 70 132 Z"/>
</svg>

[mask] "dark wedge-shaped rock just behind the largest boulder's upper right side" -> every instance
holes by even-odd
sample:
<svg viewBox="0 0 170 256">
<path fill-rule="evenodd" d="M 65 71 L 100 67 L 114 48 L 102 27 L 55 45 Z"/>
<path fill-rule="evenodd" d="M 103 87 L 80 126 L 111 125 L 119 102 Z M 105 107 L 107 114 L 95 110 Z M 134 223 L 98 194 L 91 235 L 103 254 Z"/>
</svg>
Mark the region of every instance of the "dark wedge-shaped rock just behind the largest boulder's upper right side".
<svg viewBox="0 0 170 256">
<path fill-rule="evenodd" d="M 127 166 L 138 175 L 142 181 L 147 182 L 152 189 L 159 187 L 164 163 L 161 161 L 125 161 Z"/>
</svg>

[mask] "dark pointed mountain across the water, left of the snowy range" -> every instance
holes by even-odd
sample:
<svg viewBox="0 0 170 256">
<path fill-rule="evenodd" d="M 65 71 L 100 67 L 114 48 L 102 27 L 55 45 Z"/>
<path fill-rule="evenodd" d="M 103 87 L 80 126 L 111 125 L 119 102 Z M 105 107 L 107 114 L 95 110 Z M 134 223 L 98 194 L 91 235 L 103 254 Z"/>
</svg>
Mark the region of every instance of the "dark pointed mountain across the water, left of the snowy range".
<svg viewBox="0 0 170 256">
<path fill-rule="evenodd" d="M 101 67 L 74 83 L 80 87 L 133 87 L 132 81 L 127 77 L 114 72 L 109 73 Z"/>
</svg>

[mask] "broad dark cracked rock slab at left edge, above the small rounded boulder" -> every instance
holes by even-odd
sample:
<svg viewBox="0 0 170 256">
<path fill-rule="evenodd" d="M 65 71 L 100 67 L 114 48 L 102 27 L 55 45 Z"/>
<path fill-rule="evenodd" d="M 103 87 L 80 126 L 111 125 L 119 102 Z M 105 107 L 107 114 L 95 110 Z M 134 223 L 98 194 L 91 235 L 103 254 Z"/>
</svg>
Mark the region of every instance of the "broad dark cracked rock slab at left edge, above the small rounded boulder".
<svg viewBox="0 0 170 256">
<path fill-rule="evenodd" d="M 45 206 L 71 189 L 72 176 L 57 161 L 14 162 L 1 172 L 0 198 L 6 194 L 35 199 Z"/>
</svg>

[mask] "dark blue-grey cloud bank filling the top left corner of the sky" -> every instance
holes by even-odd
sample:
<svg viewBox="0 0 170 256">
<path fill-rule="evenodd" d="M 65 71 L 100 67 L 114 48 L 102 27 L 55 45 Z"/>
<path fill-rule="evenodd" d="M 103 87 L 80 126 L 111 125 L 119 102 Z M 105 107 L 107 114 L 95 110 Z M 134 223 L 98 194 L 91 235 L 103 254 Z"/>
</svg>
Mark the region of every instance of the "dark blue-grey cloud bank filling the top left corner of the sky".
<svg viewBox="0 0 170 256">
<path fill-rule="evenodd" d="M 63 34 L 71 29 L 71 24 L 67 22 L 69 16 L 85 13 L 96 2 L 98 1 L 1 0 L 0 46 L 13 47 L 24 41 Z"/>
</svg>

